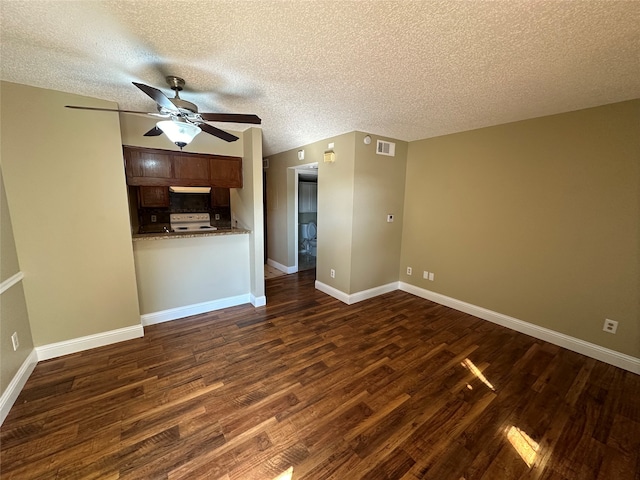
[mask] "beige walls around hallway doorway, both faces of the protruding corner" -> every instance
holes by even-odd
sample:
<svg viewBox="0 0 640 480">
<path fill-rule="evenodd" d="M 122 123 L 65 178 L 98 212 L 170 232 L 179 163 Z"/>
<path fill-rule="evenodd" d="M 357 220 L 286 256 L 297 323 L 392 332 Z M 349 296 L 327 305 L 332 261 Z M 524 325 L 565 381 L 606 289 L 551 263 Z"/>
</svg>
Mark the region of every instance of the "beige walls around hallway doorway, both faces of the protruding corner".
<svg viewBox="0 0 640 480">
<path fill-rule="evenodd" d="M 398 281 L 408 144 L 372 135 L 365 145 L 366 135 L 351 132 L 273 155 L 267 170 L 269 258 L 292 266 L 298 228 L 292 167 L 318 162 L 316 278 L 346 294 Z M 377 139 L 396 142 L 396 156 L 377 155 Z M 330 143 L 336 161 L 324 163 Z M 387 214 L 395 215 L 393 223 Z"/>
</svg>

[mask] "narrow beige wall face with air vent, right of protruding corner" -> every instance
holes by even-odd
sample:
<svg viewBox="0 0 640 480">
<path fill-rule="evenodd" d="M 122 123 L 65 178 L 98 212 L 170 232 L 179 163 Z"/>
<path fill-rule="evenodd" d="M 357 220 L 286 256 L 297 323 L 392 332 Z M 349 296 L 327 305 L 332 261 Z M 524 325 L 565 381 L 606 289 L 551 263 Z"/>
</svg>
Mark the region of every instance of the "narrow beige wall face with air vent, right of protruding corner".
<svg viewBox="0 0 640 480">
<path fill-rule="evenodd" d="M 407 142 L 356 132 L 353 237 L 349 293 L 398 281 Z M 376 154 L 376 141 L 396 144 L 395 156 Z M 392 214 L 394 221 L 387 222 Z"/>
</svg>

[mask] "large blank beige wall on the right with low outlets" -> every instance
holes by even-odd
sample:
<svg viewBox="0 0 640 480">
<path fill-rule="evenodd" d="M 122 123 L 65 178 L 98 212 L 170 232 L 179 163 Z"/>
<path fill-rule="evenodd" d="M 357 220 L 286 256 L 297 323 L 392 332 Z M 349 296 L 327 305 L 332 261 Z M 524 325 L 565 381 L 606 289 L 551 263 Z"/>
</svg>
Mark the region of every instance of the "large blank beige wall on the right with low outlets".
<svg viewBox="0 0 640 480">
<path fill-rule="evenodd" d="M 404 282 L 639 357 L 639 251 L 639 100 L 409 144 Z"/>
</svg>

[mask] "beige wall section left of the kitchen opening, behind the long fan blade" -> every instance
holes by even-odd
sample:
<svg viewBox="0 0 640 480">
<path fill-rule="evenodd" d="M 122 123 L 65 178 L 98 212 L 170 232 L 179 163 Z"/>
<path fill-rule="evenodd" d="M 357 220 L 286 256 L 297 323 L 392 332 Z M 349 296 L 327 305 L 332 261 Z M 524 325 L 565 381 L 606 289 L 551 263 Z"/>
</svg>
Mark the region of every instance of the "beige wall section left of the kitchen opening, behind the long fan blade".
<svg viewBox="0 0 640 480">
<path fill-rule="evenodd" d="M 140 324 L 115 104 L 2 83 L 2 169 L 36 346 Z"/>
</svg>

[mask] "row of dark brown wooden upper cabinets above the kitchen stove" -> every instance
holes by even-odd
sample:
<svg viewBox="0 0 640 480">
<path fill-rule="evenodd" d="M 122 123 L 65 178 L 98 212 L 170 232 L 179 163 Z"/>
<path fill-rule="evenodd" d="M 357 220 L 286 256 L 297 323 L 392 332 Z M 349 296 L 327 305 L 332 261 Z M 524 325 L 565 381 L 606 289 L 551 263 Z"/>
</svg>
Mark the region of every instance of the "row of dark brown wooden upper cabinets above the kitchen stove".
<svg viewBox="0 0 640 480">
<path fill-rule="evenodd" d="M 127 184 L 242 188 L 242 158 L 124 146 Z"/>
</svg>

